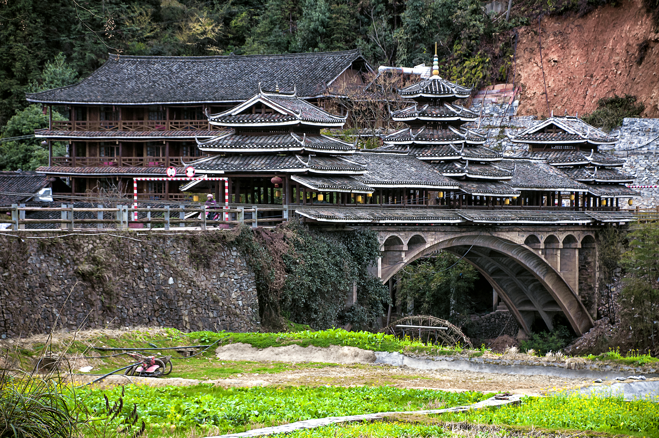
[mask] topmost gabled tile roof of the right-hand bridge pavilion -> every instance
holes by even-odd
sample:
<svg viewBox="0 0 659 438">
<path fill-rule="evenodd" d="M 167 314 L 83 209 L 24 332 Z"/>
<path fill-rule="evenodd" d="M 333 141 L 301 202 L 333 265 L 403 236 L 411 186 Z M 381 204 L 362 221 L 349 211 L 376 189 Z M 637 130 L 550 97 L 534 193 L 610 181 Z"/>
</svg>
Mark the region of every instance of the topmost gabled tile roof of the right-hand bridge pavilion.
<svg viewBox="0 0 659 438">
<path fill-rule="evenodd" d="M 556 125 L 565 133 L 542 133 L 545 127 Z M 588 125 L 582 119 L 573 115 L 553 116 L 511 137 L 513 142 L 547 142 L 561 144 L 561 142 L 590 142 L 592 144 L 614 144 L 616 137 Z"/>
</svg>

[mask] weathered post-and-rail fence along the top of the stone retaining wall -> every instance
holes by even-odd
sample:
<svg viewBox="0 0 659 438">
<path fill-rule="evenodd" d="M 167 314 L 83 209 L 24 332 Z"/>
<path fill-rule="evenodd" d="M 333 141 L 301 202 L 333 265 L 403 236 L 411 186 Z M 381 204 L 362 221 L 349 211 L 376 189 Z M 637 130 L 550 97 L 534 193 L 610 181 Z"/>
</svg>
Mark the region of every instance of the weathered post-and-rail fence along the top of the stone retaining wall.
<svg viewBox="0 0 659 438">
<path fill-rule="evenodd" d="M 202 206 L 186 206 L 180 205 L 171 207 L 165 205 L 163 208 L 134 208 L 129 205 L 117 204 L 115 208 L 105 208 L 99 204 L 97 208 L 75 208 L 73 204 L 62 204 L 61 207 L 26 207 L 25 204 L 13 204 L 8 208 L 11 212 L 11 220 L 0 219 L 0 224 L 11 224 L 11 229 L 14 231 L 24 230 L 26 225 L 52 225 L 59 224 L 62 230 L 74 230 L 76 224 L 78 228 L 81 225 L 86 225 L 84 228 L 90 228 L 90 225 L 96 225 L 96 228 L 118 228 L 126 230 L 128 228 L 157 228 L 163 227 L 169 230 L 171 226 L 186 227 L 199 226 L 202 230 L 217 225 L 240 225 L 252 224 L 252 227 L 258 226 L 259 222 L 262 224 L 272 224 L 274 222 L 281 222 L 288 220 L 289 208 L 283 207 L 232 207 L 232 208 L 215 208 L 208 210 L 205 205 Z M 26 218 L 26 212 L 54 212 L 54 216 L 59 218 L 47 219 L 30 219 Z M 74 218 L 74 213 L 86 213 L 87 216 L 94 216 L 96 218 Z M 258 218 L 258 212 L 281 212 L 281 217 L 277 218 Z M 59 213 L 59 215 L 57 214 Z M 245 218 L 245 214 L 250 213 L 252 218 Z M 172 216 L 175 214 L 175 216 Z M 225 216 L 236 216 L 236 220 L 221 220 Z M 214 220 L 215 216 L 219 216 Z M 139 218 L 142 216 L 142 218 Z M 211 219 L 209 219 L 211 218 Z"/>
</svg>

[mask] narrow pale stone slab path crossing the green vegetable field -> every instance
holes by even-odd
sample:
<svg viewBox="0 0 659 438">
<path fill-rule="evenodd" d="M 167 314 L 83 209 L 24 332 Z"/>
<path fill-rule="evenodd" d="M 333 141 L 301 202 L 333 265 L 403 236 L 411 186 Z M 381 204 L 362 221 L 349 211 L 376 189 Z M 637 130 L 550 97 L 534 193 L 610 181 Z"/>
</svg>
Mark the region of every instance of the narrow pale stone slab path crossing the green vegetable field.
<svg viewBox="0 0 659 438">
<path fill-rule="evenodd" d="M 290 433 L 300 429 L 314 429 L 315 427 L 323 427 L 334 423 L 347 423 L 347 422 L 361 422 L 364 420 L 379 420 L 388 414 L 442 414 L 444 412 L 463 412 L 470 409 L 482 409 L 490 406 L 503 406 L 504 404 L 519 404 L 519 400 L 523 394 L 513 394 L 507 396 L 507 400 L 497 400 L 495 397 L 488 398 L 482 402 L 470 404 L 468 406 L 453 406 L 453 408 L 446 409 L 429 409 L 418 411 L 393 411 L 393 412 L 378 412 L 376 414 L 362 414 L 350 415 L 343 417 L 326 417 L 314 418 L 313 420 L 304 420 L 302 422 L 295 422 L 283 424 L 280 426 L 263 427 L 262 429 L 252 429 L 246 432 L 229 433 L 227 435 L 215 435 L 214 437 L 207 438 L 238 438 L 238 437 L 260 437 L 262 435 L 274 435 L 275 433 Z"/>
</svg>

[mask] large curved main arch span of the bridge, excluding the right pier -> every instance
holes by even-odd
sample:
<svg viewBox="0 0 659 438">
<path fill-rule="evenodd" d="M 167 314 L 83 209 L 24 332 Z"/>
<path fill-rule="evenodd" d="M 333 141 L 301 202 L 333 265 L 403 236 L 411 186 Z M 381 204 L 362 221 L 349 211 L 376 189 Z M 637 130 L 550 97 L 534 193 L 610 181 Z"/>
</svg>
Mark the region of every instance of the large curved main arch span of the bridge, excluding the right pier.
<svg viewBox="0 0 659 438">
<path fill-rule="evenodd" d="M 549 329 L 553 329 L 554 315 L 563 313 L 573 330 L 583 334 L 592 328 L 592 318 L 577 296 L 575 282 L 561 272 L 561 241 L 567 239 L 569 251 L 577 238 L 573 235 L 561 237 L 559 239 L 557 235 L 550 234 L 541 244 L 535 234 L 519 235 L 515 239 L 481 232 L 453 236 L 425 234 L 416 239 L 413 235 L 408 239 L 405 250 L 385 251 L 380 266 L 381 278 L 386 282 L 419 257 L 444 249 L 463 257 L 490 282 L 525 332 L 530 332 L 536 318 L 542 319 Z M 391 235 L 386 241 L 393 242 L 390 239 Z M 590 243 L 592 237 L 584 239 Z M 394 252 L 397 257 L 392 257 Z M 568 260 L 567 255 L 565 260 Z"/>
</svg>

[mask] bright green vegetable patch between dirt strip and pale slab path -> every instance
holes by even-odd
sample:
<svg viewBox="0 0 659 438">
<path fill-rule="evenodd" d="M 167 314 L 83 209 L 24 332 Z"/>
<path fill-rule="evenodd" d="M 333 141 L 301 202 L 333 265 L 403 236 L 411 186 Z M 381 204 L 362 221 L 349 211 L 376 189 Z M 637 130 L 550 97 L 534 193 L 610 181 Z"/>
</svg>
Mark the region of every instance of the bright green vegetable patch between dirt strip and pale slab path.
<svg viewBox="0 0 659 438">
<path fill-rule="evenodd" d="M 260 427 L 374 412 L 421 410 L 472 404 L 484 400 L 480 392 L 444 392 L 393 387 L 256 387 L 222 389 L 212 385 L 153 388 L 139 385 L 112 389 L 78 390 L 77 396 L 91 412 L 102 412 L 123 392 L 123 409 L 117 425 L 129 418 L 137 405 L 140 420 L 158 432 L 195 427 L 214 434 Z M 172 427 L 173 426 L 173 427 Z M 153 434 L 150 433 L 150 434 Z"/>
</svg>

